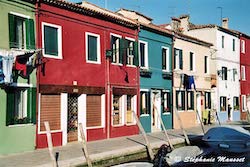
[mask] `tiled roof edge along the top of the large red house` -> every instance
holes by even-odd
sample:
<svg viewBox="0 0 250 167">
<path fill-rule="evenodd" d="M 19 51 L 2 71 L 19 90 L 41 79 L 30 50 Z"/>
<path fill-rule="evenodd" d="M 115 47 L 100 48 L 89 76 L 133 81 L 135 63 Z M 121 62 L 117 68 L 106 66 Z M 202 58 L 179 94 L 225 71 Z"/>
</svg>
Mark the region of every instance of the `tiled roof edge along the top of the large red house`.
<svg viewBox="0 0 250 167">
<path fill-rule="evenodd" d="M 76 4 L 68 2 L 65 0 L 41 0 L 49 5 L 53 5 L 59 8 L 74 11 L 76 13 L 81 13 L 89 15 L 92 17 L 100 18 L 117 24 L 121 24 L 127 27 L 138 27 L 137 23 L 131 19 L 120 16 L 112 11 L 106 10 L 104 8 L 93 5 L 89 2 L 83 2 L 82 4 Z"/>
</svg>

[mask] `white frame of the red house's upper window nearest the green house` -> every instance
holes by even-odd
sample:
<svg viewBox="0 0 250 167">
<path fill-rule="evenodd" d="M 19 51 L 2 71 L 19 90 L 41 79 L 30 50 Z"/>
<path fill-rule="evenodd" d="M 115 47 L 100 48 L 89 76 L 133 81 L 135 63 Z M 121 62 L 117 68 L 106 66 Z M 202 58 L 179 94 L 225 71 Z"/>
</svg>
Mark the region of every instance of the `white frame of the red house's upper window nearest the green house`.
<svg viewBox="0 0 250 167">
<path fill-rule="evenodd" d="M 49 55 L 45 54 L 45 41 L 44 41 L 44 26 L 49 26 L 53 28 L 57 28 L 57 40 L 58 40 L 58 56 L 55 55 Z M 56 25 L 56 24 L 51 24 L 51 23 L 46 23 L 42 22 L 42 50 L 43 50 L 43 55 L 44 57 L 47 58 L 53 58 L 53 59 L 62 59 L 62 26 Z"/>
</svg>

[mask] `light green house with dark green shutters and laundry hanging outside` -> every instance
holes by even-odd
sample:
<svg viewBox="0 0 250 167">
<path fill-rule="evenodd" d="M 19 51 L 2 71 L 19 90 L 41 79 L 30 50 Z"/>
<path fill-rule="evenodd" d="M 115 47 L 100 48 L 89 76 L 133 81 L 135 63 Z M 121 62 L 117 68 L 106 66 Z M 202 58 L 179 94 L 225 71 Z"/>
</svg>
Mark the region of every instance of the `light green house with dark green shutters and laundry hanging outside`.
<svg viewBox="0 0 250 167">
<path fill-rule="evenodd" d="M 0 1 L 0 155 L 35 149 L 35 5 Z"/>
</svg>

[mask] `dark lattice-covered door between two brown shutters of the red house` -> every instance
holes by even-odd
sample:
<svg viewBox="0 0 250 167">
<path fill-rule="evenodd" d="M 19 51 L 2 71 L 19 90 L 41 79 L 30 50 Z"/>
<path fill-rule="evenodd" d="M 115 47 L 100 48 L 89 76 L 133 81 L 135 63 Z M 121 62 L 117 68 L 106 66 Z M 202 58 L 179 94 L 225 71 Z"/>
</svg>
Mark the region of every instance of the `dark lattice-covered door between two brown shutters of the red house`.
<svg viewBox="0 0 250 167">
<path fill-rule="evenodd" d="M 69 94 L 68 96 L 68 142 L 78 140 L 78 95 Z"/>
</svg>

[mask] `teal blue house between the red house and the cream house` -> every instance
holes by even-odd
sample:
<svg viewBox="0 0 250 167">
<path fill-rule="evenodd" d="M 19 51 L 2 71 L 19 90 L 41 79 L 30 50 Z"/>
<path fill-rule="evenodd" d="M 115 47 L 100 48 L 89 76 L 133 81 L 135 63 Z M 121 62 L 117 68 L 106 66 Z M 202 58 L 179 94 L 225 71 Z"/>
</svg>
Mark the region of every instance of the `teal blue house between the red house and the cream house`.
<svg viewBox="0 0 250 167">
<path fill-rule="evenodd" d="M 141 13 L 127 9 L 118 13 L 140 24 L 140 121 L 146 132 L 162 130 L 160 119 L 166 129 L 171 129 L 173 36 Z"/>
</svg>

